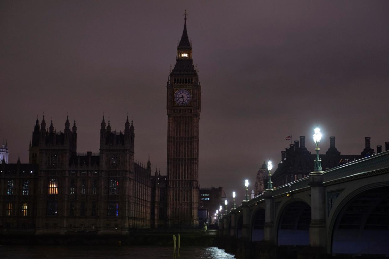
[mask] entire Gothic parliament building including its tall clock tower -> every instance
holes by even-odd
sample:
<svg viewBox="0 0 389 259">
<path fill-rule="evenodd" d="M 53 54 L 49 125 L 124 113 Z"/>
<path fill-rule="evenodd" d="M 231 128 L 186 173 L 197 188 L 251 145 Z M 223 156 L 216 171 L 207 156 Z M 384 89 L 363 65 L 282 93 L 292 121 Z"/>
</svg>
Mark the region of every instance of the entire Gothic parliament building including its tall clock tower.
<svg viewBox="0 0 389 259">
<path fill-rule="evenodd" d="M 8 149 L 2 156 L 0 231 L 126 235 L 133 228 L 196 228 L 201 87 L 186 15 L 166 94 L 166 176 L 152 172 L 150 158 L 135 159 L 128 116 L 119 132 L 103 116 L 98 153 L 77 152 L 75 121 L 67 117 L 56 131 L 43 116 L 33 126 L 28 164 L 8 163 Z"/>
</svg>

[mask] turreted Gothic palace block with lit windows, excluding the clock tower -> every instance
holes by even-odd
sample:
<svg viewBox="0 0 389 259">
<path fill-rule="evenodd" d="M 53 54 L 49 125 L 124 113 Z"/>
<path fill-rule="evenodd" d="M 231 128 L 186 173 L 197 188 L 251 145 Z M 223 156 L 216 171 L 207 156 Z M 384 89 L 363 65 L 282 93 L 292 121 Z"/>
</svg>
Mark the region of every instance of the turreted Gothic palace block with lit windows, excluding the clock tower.
<svg viewBox="0 0 389 259">
<path fill-rule="evenodd" d="M 103 117 L 100 153 L 77 153 L 75 122 L 70 129 L 67 119 L 65 130 L 56 132 L 53 121 L 46 129 L 45 119 L 40 127 L 37 120 L 30 164 L 2 165 L 2 226 L 32 228 L 36 234 L 150 228 L 150 159 L 146 165 L 134 160 L 128 117 L 124 127 L 124 133 L 112 131 Z"/>
</svg>

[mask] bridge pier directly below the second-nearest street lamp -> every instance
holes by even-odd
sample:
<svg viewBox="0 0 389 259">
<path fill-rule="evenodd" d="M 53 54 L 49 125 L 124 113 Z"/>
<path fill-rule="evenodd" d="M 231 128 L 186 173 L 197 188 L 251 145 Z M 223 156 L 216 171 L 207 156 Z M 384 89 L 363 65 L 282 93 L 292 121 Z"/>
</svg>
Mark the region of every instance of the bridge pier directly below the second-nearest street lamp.
<svg viewBox="0 0 389 259">
<path fill-rule="evenodd" d="M 265 196 L 265 226 L 263 227 L 264 240 L 276 244 L 275 229 L 274 229 L 274 200 L 273 190 L 268 189 L 263 191 Z"/>
</svg>

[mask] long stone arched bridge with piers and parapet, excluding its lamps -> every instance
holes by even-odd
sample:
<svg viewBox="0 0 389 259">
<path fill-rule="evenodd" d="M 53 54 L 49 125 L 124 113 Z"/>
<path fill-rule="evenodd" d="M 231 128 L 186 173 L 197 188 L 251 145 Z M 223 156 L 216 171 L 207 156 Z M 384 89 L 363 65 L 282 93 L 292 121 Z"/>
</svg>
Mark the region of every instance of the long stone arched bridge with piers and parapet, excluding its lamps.
<svg viewBox="0 0 389 259">
<path fill-rule="evenodd" d="M 219 236 L 388 256 L 389 151 L 242 201 L 219 220 Z"/>
</svg>

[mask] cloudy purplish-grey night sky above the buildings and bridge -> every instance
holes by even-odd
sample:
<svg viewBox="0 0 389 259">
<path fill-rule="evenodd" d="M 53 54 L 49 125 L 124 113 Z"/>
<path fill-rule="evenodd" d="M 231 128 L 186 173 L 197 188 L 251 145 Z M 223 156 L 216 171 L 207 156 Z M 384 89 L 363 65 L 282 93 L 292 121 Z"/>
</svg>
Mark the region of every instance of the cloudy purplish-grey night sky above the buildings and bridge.
<svg viewBox="0 0 389 259">
<path fill-rule="evenodd" d="M 72 4 L 70 4 L 72 3 Z M 305 135 L 321 153 L 389 141 L 387 1 L 2 1 L 0 138 L 28 162 L 36 116 L 63 130 L 76 119 L 77 151 L 99 149 L 135 124 L 135 156 L 166 172 L 166 80 L 183 13 L 202 84 L 200 186 L 244 198 L 263 160 Z M 239 200 L 239 198 L 238 198 Z"/>
</svg>

